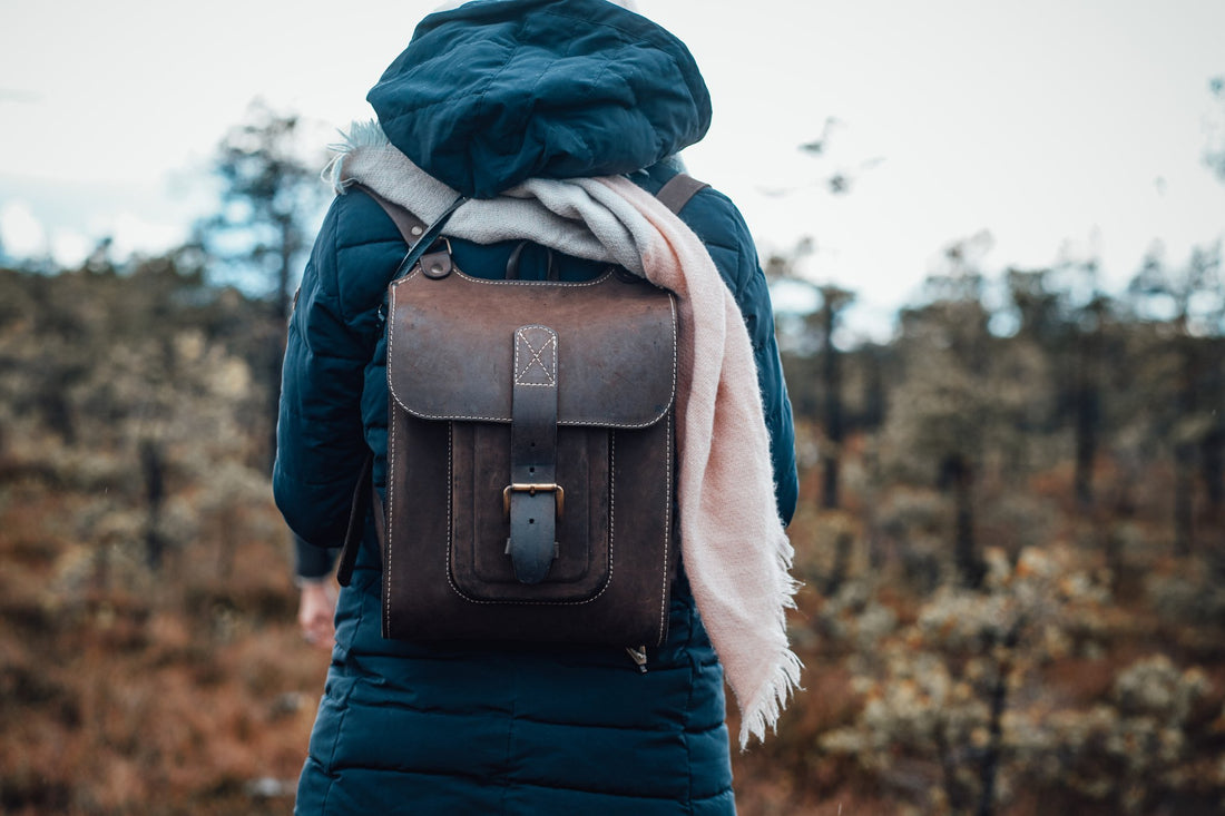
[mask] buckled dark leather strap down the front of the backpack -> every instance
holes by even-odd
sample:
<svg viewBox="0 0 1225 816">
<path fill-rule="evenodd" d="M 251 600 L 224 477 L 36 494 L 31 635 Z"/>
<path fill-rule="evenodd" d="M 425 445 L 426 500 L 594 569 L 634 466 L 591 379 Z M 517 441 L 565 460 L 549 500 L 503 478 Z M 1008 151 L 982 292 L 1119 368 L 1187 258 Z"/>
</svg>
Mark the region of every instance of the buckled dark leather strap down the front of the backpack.
<svg viewBox="0 0 1225 816">
<path fill-rule="evenodd" d="M 557 333 L 546 326 L 514 332 L 511 397 L 511 484 L 503 494 L 511 537 L 506 553 L 521 583 L 540 583 L 557 554 Z"/>
</svg>

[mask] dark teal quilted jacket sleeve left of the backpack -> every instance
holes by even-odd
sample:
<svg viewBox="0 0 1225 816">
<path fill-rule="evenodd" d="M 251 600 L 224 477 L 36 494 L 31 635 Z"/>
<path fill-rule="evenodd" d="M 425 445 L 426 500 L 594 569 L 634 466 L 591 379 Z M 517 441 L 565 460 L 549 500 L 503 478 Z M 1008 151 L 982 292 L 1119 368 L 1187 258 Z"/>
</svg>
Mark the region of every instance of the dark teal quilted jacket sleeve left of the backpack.
<svg viewBox="0 0 1225 816">
<path fill-rule="evenodd" d="M 328 556 L 310 555 L 303 543 L 328 548 L 343 542 L 366 457 L 360 401 L 370 348 L 347 321 L 337 288 L 341 201 L 323 219 L 303 273 L 282 371 L 272 488 L 277 507 L 300 539 L 300 575 L 331 567 Z"/>
</svg>

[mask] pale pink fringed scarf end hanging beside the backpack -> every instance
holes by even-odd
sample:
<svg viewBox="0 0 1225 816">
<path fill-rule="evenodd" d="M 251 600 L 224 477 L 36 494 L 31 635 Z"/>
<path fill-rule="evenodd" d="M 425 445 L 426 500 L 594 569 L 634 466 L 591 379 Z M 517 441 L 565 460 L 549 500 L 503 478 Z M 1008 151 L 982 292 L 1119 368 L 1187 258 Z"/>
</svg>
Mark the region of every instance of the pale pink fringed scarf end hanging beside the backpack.
<svg viewBox="0 0 1225 816">
<path fill-rule="evenodd" d="M 799 684 L 786 640 L 791 545 L 774 506 L 769 439 L 748 332 L 706 246 L 659 201 L 599 179 L 654 228 L 642 247 L 653 283 L 681 312 L 677 423 L 681 553 L 702 622 L 741 711 L 740 746 L 764 736 Z"/>
</svg>

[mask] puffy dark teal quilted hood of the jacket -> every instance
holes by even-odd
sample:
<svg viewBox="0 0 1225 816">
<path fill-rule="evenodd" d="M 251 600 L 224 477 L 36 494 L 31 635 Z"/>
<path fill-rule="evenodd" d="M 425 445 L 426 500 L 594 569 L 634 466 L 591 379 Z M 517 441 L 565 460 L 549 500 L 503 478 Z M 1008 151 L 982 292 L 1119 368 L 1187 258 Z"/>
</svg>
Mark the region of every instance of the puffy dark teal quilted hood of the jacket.
<svg viewBox="0 0 1225 816">
<path fill-rule="evenodd" d="M 430 15 L 366 99 L 387 137 L 459 192 L 630 173 L 701 140 L 688 49 L 606 0 L 477 0 Z"/>
</svg>

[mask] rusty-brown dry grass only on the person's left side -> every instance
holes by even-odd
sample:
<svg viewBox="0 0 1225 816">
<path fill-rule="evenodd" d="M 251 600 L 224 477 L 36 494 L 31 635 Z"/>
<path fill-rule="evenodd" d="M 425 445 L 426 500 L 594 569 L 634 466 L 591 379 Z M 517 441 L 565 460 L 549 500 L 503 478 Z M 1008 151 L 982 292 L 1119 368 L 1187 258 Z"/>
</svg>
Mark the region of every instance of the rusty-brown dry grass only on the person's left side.
<svg viewBox="0 0 1225 816">
<path fill-rule="evenodd" d="M 74 539 L 71 495 L 0 490 L 0 810 L 287 811 L 252 785 L 296 778 L 327 658 L 283 543 L 245 542 L 229 578 L 207 540 L 132 578 L 130 548 Z"/>
</svg>

